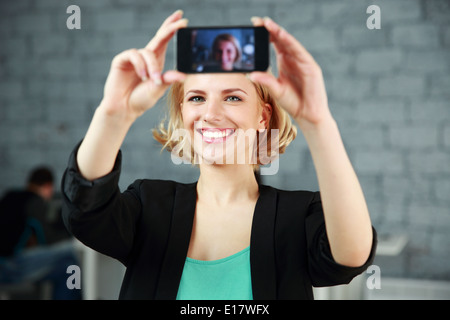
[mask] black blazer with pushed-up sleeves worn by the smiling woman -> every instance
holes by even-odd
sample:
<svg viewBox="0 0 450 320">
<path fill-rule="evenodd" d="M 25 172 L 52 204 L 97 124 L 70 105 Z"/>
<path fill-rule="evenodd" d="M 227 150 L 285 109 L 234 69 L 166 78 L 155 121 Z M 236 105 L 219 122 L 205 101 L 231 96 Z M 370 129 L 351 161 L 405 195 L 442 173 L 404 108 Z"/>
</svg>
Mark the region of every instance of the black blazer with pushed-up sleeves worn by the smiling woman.
<svg viewBox="0 0 450 320">
<path fill-rule="evenodd" d="M 83 179 L 72 152 L 62 178 L 63 219 L 87 246 L 127 268 L 120 299 L 175 299 L 187 256 L 197 183 L 137 180 L 120 192 L 121 153 L 113 171 Z M 349 283 L 373 261 L 339 265 L 329 248 L 318 192 L 259 186 L 250 241 L 255 300 L 313 299 L 312 286 Z"/>
</svg>

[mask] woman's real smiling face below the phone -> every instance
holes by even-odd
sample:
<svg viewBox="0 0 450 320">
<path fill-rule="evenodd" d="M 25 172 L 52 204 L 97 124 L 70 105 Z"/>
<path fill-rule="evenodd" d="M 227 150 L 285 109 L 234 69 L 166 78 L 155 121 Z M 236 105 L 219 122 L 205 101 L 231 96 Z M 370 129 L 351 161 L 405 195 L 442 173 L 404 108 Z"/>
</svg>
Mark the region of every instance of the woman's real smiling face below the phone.
<svg viewBox="0 0 450 320">
<path fill-rule="evenodd" d="M 236 157 L 251 150 L 256 130 L 267 121 L 255 86 L 243 74 L 189 75 L 181 112 L 194 152 L 216 164 L 242 163 Z"/>
</svg>

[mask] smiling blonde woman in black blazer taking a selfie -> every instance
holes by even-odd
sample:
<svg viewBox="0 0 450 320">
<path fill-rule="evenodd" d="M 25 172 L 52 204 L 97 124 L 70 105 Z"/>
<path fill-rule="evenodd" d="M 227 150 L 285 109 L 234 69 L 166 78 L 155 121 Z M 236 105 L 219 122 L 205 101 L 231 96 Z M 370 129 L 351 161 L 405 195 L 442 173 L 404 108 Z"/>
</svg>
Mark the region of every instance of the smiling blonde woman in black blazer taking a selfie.
<svg viewBox="0 0 450 320">
<path fill-rule="evenodd" d="M 121 299 L 312 299 L 312 285 L 348 283 L 374 258 L 376 236 L 319 66 L 269 18 L 253 23 L 271 35 L 278 78 L 161 74 L 169 40 L 187 25 L 181 11 L 144 49 L 112 62 L 104 98 L 62 187 L 69 230 L 127 267 Z M 209 148 L 192 148 L 206 160 L 198 182 L 137 180 L 120 193 L 125 135 L 171 85 L 170 125 L 155 135 L 170 149 L 170 132 L 182 126 Z M 258 185 L 249 161 L 221 164 L 229 151 L 219 150 L 239 129 L 278 127 L 282 151 L 295 136 L 283 110 L 308 142 L 320 194 Z"/>
</svg>

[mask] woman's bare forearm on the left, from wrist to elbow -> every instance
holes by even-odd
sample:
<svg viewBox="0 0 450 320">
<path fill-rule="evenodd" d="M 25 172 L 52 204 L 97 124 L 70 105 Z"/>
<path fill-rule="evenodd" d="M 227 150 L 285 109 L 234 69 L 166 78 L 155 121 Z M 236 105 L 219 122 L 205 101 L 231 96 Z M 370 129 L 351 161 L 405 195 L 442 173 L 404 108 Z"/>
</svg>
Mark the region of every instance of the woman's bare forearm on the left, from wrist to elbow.
<svg viewBox="0 0 450 320">
<path fill-rule="evenodd" d="M 131 119 L 109 114 L 100 104 L 78 149 L 78 169 L 84 178 L 92 181 L 111 172 L 132 123 Z"/>
</svg>

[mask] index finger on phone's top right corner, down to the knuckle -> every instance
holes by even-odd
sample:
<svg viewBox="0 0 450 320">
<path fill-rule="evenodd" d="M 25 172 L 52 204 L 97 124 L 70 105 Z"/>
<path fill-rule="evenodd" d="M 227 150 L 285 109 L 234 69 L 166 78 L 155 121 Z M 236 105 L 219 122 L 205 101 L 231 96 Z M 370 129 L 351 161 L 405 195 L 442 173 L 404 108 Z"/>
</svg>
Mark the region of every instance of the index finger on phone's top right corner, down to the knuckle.
<svg viewBox="0 0 450 320">
<path fill-rule="evenodd" d="M 271 41 L 275 45 L 277 52 L 295 55 L 305 62 L 315 62 L 314 58 L 305 47 L 272 19 L 265 17 L 264 26 L 269 31 Z"/>
</svg>

